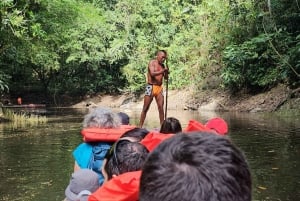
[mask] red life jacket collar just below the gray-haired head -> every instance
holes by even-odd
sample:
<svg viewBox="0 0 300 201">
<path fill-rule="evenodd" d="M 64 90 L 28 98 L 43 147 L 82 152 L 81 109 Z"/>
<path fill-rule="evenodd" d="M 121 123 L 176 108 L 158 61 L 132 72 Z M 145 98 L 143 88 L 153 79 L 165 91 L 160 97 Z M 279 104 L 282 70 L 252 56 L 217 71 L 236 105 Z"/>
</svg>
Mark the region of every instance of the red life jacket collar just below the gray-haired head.
<svg viewBox="0 0 300 201">
<path fill-rule="evenodd" d="M 85 142 L 115 142 L 126 131 L 133 128 L 136 128 L 136 126 L 121 125 L 119 128 L 84 128 L 81 130 L 81 134 Z"/>
</svg>

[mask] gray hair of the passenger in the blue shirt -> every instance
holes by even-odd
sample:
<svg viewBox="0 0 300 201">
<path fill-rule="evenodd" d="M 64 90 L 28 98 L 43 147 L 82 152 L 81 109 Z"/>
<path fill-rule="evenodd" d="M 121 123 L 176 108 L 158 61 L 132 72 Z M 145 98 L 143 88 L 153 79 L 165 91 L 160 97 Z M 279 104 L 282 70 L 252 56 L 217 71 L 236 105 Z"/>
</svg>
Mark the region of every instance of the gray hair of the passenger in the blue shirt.
<svg viewBox="0 0 300 201">
<path fill-rule="evenodd" d="M 83 128 L 117 128 L 120 125 L 119 116 L 108 108 L 95 108 L 83 120 Z"/>
</svg>

